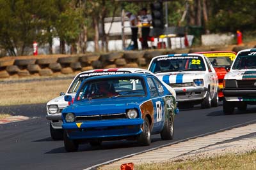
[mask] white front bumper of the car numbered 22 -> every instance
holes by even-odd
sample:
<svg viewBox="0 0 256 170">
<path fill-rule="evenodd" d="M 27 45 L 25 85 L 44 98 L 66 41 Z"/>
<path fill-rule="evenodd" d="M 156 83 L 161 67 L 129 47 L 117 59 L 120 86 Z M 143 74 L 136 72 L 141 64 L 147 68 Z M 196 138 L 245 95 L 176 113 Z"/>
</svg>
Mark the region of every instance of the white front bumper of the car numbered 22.
<svg viewBox="0 0 256 170">
<path fill-rule="evenodd" d="M 200 101 L 205 98 L 207 93 L 206 87 L 184 87 L 174 89 L 176 92 L 176 101 Z"/>
</svg>

